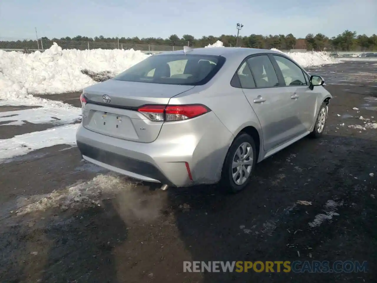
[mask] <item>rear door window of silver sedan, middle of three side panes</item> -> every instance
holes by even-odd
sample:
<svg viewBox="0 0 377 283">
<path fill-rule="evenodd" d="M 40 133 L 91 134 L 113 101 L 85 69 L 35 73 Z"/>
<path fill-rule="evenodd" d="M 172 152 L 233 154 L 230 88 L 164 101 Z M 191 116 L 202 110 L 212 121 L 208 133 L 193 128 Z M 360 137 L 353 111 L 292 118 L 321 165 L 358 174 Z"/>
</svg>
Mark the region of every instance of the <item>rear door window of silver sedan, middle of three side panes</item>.
<svg viewBox="0 0 377 283">
<path fill-rule="evenodd" d="M 279 80 L 267 55 L 258 55 L 247 59 L 253 72 L 257 88 L 271 88 L 279 86 Z"/>
</svg>

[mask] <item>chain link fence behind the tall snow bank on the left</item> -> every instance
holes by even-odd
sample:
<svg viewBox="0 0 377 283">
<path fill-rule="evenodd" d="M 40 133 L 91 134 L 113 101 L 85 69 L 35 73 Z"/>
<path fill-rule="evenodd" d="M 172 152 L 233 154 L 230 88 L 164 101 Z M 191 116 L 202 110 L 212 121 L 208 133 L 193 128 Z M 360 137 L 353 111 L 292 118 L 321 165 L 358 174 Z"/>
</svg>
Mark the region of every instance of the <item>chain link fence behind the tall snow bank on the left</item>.
<svg viewBox="0 0 377 283">
<path fill-rule="evenodd" d="M 183 46 L 173 45 L 155 45 L 155 44 L 138 44 L 138 43 L 122 43 L 122 42 L 98 42 L 98 41 L 65 41 L 65 40 L 17 40 L 6 41 L 0 38 L 0 49 L 3 50 L 46 50 L 49 49 L 54 42 L 62 49 L 134 49 L 145 52 L 154 51 L 175 51 L 182 50 Z"/>
</svg>

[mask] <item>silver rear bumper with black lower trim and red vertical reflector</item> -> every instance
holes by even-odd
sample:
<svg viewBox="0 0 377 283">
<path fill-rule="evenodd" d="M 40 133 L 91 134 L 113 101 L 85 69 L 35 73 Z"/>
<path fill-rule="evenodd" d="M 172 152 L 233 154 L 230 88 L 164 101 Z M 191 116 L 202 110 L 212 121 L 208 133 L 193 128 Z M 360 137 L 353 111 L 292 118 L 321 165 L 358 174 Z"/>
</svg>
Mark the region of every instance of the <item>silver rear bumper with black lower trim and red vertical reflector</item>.
<svg viewBox="0 0 377 283">
<path fill-rule="evenodd" d="M 139 180 L 185 187 L 220 180 L 233 135 L 210 112 L 190 121 L 164 124 L 151 143 L 99 134 L 82 124 L 76 140 L 89 162 Z"/>
</svg>

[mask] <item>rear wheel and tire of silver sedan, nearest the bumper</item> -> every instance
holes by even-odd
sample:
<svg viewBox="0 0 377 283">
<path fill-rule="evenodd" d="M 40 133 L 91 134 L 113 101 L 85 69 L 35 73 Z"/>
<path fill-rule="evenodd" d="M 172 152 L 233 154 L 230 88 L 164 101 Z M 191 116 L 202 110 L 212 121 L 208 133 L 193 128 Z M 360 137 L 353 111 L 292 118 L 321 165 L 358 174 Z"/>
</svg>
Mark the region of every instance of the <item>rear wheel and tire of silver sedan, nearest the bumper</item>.
<svg viewBox="0 0 377 283">
<path fill-rule="evenodd" d="M 256 148 L 253 138 L 239 134 L 230 146 L 222 168 L 221 185 L 231 194 L 242 191 L 251 180 L 256 164 Z"/>
</svg>

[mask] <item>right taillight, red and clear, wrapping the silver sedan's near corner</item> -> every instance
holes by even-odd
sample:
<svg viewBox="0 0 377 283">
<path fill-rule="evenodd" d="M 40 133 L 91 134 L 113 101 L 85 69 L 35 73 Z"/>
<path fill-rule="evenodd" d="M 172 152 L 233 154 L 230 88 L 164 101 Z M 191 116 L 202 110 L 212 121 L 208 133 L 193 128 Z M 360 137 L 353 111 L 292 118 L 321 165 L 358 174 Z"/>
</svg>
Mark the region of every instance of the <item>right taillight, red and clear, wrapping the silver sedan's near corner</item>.
<svg viewBox="0 0 377 283">
<path fill-rule="evenodd" d="M 211 110 L 201 104 L 192 105 L 144 105 L 138 109 L 152 121 L 181 121 L 210 112 Z"/>
</svg>

